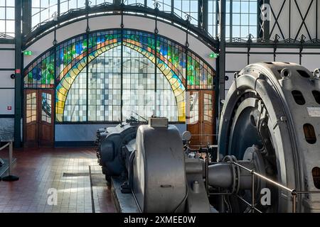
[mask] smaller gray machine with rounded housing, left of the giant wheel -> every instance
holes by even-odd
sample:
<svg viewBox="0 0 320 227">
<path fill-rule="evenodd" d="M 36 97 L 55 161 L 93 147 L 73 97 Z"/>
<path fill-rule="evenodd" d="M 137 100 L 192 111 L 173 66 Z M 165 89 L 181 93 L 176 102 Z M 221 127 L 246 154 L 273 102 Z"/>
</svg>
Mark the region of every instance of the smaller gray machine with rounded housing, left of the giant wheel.
<svg viewBox="0 0 320 227">
<path fill-rule="evenodd" d="M 109 128 L 98 142 L 107 181 L 127 179 L 122 192 L 132 193 L 142 212 L 209 212 L 204 162 L 185 160 L 176 126 L 169 126 L 167 118 L 150 118 L 139 128 L 131 124 Z"/>
</svg>

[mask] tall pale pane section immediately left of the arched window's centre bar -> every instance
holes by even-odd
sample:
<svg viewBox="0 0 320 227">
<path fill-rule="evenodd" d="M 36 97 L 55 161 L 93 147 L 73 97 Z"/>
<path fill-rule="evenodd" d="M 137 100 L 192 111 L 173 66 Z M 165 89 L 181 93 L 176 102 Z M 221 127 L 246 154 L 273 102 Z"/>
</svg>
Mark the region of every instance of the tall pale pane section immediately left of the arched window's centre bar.
<svg viewBox="0 0 320 227">
<path fill-rule="evenodd" d="M 96 57 L 88 70 L 88 120 L 121 119 L 121 47 Z"/>
</svg>

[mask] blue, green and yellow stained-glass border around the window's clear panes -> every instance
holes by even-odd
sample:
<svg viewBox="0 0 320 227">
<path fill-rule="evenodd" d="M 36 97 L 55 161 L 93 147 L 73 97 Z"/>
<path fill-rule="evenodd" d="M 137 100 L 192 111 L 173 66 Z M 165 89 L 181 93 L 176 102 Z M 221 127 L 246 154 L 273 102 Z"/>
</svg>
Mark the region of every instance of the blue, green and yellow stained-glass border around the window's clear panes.
<svg viewBox="0 0 320 227">
<path fill-rule="evenodd" d="M 215 72 L 198 55 L 161 35 L 126 29 L 80 35 L 57 45 L 55 50 L 41 55 L 24 70 L 25 87 L 54 87 L 56 82 L 56 120 L 68 121 L 63 114 L 68 92 L 75 79 L 81 72 L 85 72 L 83 70 L 87 64 L 119 45 L 139 52 L 156 65 L 157 72 L 154 73 L 166 78 L 176 99 L 178 121 L 186 120 L 186 89 L 214 88 Z M 117 56 L 117 52 L 114 54 L 114 57 L 120 57 Z M 87 119 L 82 118 L 83 121 Z"/>
</svg>

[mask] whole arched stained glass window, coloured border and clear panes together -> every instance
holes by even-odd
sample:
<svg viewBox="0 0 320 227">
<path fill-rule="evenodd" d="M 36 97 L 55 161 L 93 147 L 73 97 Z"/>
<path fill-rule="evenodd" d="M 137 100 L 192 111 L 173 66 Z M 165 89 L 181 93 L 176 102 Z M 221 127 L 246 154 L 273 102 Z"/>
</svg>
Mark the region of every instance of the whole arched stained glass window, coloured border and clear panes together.
<svg viewBox="0 0 320 227">
<path fill-rule="evenodd" d="M 24 73 L 26 88 L 53 88 L 56 83 L 59 122 L 118 121 L 131 115 L 126 109 L 145 118 L 156 114 L 185 121 L 186 86 L 213 89 L 215 76 L 206 62 L 183 45 L 129 30 L 67 40 L 31 62 Z"/>
</svg>

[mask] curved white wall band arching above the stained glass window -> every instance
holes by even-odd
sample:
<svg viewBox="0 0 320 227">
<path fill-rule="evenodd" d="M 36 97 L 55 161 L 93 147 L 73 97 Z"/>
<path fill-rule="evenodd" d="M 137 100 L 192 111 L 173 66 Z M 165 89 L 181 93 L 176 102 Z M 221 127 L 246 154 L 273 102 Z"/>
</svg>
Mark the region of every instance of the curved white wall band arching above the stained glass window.
<svg viewBox="0 0 320 227">
<path fill-rule="evenodd" d="M 153 33 L 155 28 L 155 22 L 152 19 L 144 18 L 141 16 L 124 16 L 124 28 L 129 29 L 137 29 L 142 31 L 148 31 Z M 90 31 L 99 31 L 104 29 L 111 28 L 120 28 L 121 16 L 98 16 L 95 18 L 90 18 L 89 27 Z M 181 45 L 185 45 L 186 43 L 186 32 L 181 30 L 181 28 L 176 28 L 175 26 L 171 26 L 168 23 L 164 23 L 158 21 L 157 23 L 159 35 L 164 35 L 165 37 L 170 38 L 171 40 L 175 40 L 177 43 Z M 63 26 L 58 28 L 56 31 L 56 40 L 58 43 L 67 40 L 68 38 L 72 38 L 75 35 L 80 35 L 85 33 L 87 28 L 87 23 L 85 20 L 77 21 L 75 23 L 71 23 L 70 25 Z M 53 46 L 54 35 L 53 32 L 48 33 L 47 35 L 40 38 L 35 43 L 30 45 L 27 50 L 32 50 L 32 56 L 24 56 L 23 57 L 23 65 L 26 67 L 30 62 L 32 62 L 36 57 L 41 55 L 43 52 L 48 50 Z M 189 49 L 193 52 L 196 52 L 200 57 L 202 57 L 208 64 L 215 68 L 215 59 L 210 58 L 209 55 L 212 50 L 208 48 L 207 45 L 202 43 L 200 40 L 195 38 L 193 35 L 188 35 L 188 43 Z"/>
</svg>

